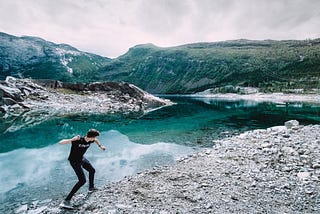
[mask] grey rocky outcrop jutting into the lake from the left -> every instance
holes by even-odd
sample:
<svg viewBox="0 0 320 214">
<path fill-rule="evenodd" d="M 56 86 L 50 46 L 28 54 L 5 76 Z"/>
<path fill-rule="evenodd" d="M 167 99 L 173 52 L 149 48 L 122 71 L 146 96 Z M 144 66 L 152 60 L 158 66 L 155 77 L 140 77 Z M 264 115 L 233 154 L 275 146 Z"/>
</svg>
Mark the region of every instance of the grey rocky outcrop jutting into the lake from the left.
<svg viewBox="0 0 320 214">
<path fill-rule="evenodd" d="M 0 120 L 9 123 L 5 129 L 12 129 L 10 121 L 16 123 L 16 117 L 20 120 L 28 118 L 20 123 L 27 125 L 52 116 L 76 113 L 142 115 L 172 104 L 124 82 L 36 82 L 13 77 L 0 82 Z"/>
</svg>

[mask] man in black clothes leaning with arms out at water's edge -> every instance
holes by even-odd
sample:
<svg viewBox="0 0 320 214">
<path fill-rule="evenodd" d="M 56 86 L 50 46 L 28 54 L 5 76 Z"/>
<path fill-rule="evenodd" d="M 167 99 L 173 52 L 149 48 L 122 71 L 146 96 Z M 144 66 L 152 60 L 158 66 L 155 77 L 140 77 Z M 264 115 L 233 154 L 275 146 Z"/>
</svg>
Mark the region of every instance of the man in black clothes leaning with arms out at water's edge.
<svg viewBox="0 0 320 214">
<path fill-rule="evenodd" d="M 98 136 L 99 132 L 97 130 L 90 129 L 85 137 L 80 137 L 78 135 L 71 139 L 64 139 L 59 141 L 59 144 L 61 145 L 71 143 L 71 150 L 68 160 L 70 161 L 70 165 L 72 166 L 74 172 L 78 177 L 78 182 L 74 185 L 69 195 L 61 204 L 61 206 L 64 208 L 73 208 L 70 203 L 72 196 L 80 189 L 80 187 L 82 187 L 86 183 L 86 176 L 84 175 L 83 169 L 89 172 L 89 192 L 97 190 L 94 187 L 95 169 L 83 155 L 86 153 L 91 143 L 96 143 L 99 146 L 99 148 L 103 151 L 106 150 L 106 147 L 104 147 L 98 141 Z"/>
</svg>

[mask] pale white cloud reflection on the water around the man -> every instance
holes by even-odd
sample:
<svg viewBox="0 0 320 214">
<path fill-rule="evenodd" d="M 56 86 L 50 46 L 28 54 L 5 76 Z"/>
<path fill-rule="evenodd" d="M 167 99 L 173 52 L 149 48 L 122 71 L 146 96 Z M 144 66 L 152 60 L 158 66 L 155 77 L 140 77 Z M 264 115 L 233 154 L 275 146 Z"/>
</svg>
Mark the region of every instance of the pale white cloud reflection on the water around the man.
<svg viewBox="0 0 320 214">
<path fill-rule="evenodd" d="M 172 164 L 195 151 L 162 142 L 136 144 L 115 130 L 102 132 L 99 140 L 107 151 L 102 152 L 92 145 L 86 153 L 96 168 L 97 186 L 151 167 Z M 0 154 L 0 212 L 32 200 L 64 198 L 77 180 L 67 161 L 69 150 L 70 145 L 53 144 Z M 86 188 L 81 188 L 80 192 Z"/>
</svg>

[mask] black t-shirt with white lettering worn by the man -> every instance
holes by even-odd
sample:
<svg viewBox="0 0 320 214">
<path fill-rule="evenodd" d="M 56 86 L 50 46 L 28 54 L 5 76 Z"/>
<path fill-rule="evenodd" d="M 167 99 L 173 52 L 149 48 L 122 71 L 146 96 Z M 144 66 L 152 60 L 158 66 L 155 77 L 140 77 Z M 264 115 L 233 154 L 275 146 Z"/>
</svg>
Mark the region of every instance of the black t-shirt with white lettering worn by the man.
<svg viewBox="0 0 320 214">
<path fill-rule="evenodd" d="M 84 137 L 81 137 L 79 140 L 71 142 L 71 150 L 69 154 L 69 161 L 82 161 L 84 153 L 90 147 L 90 144 L 94 141 L 86 142 Z"/>
</svg>

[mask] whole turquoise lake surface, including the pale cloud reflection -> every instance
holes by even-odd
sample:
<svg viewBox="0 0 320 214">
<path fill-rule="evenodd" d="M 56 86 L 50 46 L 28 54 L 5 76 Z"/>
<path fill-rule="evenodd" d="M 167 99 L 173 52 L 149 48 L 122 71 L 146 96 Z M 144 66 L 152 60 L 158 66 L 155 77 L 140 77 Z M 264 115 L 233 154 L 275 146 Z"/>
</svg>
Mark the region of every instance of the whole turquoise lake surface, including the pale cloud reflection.
<svg viewBox="0 0 320 214">
<path fill-rule="evenodd" d="M 25 120 L 19 119 L 2 123 L 0 212 L 32 201 L 63 199 L 76 176 L 66 160 L 70 146 L 57 142 L 84 135 L 89 128 L 100 130 L 99 139 L 107 146 L 102 152 L 93 145 L 86 155 L 96 167 L 96 182 L 101 186 L 147 168 L 172 164 L 199 148 L 211 147 L 213 139 L 283 125 L 290 119 L 320 123 L 319 104 L 170 99 L 177 104 L 139 118 L 82 114 L 51 117 L 29 126 L 21 126 Z M 20 128 L 12 129 L 12 125 Z"/>
</svg>

